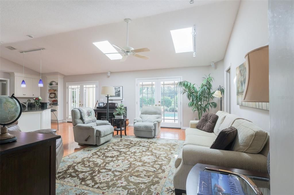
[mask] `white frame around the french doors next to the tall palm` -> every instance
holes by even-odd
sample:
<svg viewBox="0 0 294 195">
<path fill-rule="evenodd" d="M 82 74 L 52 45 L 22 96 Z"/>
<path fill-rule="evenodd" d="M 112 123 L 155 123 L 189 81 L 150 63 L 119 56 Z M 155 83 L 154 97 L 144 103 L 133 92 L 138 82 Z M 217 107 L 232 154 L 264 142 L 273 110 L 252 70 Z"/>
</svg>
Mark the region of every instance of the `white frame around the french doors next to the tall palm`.
<svg viewBox="0 0 294 195">
<path fill-rule="evenodd" d="M 135 82 L 135 88 L 136 88 L 136 91 L 135 91 L 135 94 L 136 94 L 136 101 L 135 101 L 135 108 L 136 108 L 136 117 L 139 117 L 139 112 L 138 112 L 138 80 L 151 80 L 151 79 L 170 79 L 170 78 L 180 78 L 180 81 L 183 81 L 183 76 L 166 76 L 166 77 L 151 77 L 151 78 L 136 78 L 136 82 Z M 179 94 L 179 99 L 180 99 L 180 102 L 181 102 L 181 105 L 180 105 L 180 116 L 181 116 L 181 120 L 179 121 L 181 123 L 181 129 L 183 129 L 183 104 L 182 104 L 182 100 L 183 100 L 183 95 L 180 95 Z"/>
</svg>

